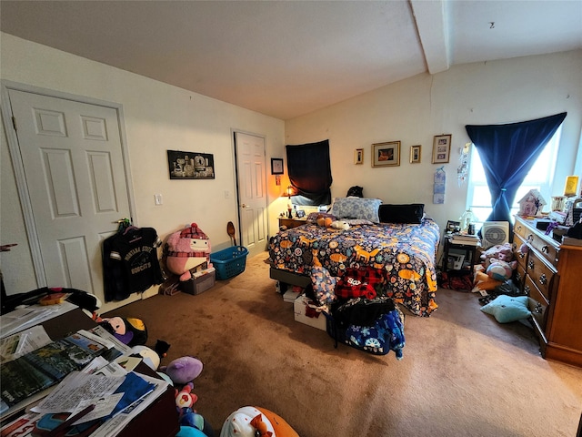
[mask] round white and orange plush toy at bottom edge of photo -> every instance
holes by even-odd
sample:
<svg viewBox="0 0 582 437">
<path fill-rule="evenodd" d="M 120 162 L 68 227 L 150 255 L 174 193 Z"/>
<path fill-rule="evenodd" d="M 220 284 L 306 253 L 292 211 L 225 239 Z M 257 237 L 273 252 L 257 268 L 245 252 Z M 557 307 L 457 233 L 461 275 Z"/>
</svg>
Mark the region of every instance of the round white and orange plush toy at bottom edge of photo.
<svg viewBox="0 0 582 437">
<path fill-rule="evenodd" d="M 275 412 L 246 406 L 226 418 L 220 437 L 299 437 L 299 434 Z"/>
</svg>

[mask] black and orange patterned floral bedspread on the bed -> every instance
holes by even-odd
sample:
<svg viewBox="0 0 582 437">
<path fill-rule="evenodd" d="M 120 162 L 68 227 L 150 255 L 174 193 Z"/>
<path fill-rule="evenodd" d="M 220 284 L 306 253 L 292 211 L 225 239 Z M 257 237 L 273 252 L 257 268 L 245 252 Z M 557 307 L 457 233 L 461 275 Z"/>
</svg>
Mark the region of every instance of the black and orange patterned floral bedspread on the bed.
<svg viewBox="0 0 582 437">
<path fill-rule="evenodd" d="M 308 223 L 269 241 L 271 265 L 308 275 L 321 265 L 333 276 L 347 268 L 382 269 L 386 295 L 418 316 L 437 309 L 437 223 L 353 225 L 331 229 Z"/>
</svg>

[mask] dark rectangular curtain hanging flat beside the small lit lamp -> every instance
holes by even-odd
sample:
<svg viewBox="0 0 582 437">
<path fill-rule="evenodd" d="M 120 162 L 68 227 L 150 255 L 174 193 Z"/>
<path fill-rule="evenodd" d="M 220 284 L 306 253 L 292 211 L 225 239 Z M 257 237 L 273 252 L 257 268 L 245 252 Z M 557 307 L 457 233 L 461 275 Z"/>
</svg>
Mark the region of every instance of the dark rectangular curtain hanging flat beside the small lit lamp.
<svg viewBox="0 0 582 437">
<path fill-rule="evenodd" d="M 295 188 L 295 205 L 331 203 L 331 164 L 329 140 L 301 145 L 287 145 L 289 181 Z"/>
</svg>

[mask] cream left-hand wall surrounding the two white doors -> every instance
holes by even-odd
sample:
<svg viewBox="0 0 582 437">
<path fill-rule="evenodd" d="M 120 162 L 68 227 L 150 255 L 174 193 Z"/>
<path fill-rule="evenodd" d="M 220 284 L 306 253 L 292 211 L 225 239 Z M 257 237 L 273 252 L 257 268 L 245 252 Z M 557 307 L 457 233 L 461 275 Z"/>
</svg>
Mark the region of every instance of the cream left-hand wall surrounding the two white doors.
<svg viewBox="0 0 582 437">
<path fill-rule="evenodd" d="M 270 169 L 269 158 L 283 156 L 282 120 L 15 36 L 0 36 L 2 79 L 123 105 L 136 225 L 153 227 L 165 238 L 195 221 L 209 236 L 213 250 L 231 244 L 226 223 L 236 223 L 237 213 L 232 130 L 266 138 Z M 4 126 L 1 141 L 0 244 L 18 246 L 2 252 L 0 267 L 6 290 L 13 294 L 34 290 L 36 283 Z M 214 154 L 216 178 L 170 180 L 167 149 Z M 280 202 L 275 177 L 268 177 L 268 189 L 269 202 Z M 225 198 L 225 190 L 231 192 L 230 198 Z M 155 206 L 156 193 L 163 195 L 163 206 Z M 276 206 L 276 212 L 279 209 Z M 272 229 L 276 229 L 276 212 Z"/>
</svg>

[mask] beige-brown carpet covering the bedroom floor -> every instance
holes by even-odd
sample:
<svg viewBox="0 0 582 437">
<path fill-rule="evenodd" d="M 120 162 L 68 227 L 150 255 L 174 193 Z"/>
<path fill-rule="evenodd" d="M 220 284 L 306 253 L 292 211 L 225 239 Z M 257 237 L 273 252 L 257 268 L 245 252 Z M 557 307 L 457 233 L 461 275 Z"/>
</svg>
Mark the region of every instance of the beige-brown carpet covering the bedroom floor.
<svg viewBox="0 0 582 437">
<path fill-rule="evenodd" d="M 204 363 L 196 410 L 220 433 L 244 405 L 279 413 L 302 437 L 567 436 L 582 412 L 582 369 L 546 361 L 533 331 L 479 310 L 475 294 L 437 292 L 429 318 L 406 316 L 404 359 L 373 356 L 294 320 L 266 254 L 192 296 L 156 296 L 108 316 L 146 322 L 147 344 Z"/>
</svg>

